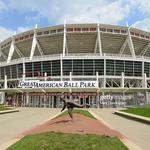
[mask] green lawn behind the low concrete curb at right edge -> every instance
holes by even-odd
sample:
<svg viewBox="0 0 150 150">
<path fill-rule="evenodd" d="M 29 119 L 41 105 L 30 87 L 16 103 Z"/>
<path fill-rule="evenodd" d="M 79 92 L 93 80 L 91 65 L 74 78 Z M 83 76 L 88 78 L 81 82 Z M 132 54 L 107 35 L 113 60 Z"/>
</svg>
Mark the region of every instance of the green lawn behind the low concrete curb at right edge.
<svg viewBox="0 0 150 150">
<path fill-rule="evenodd" d="M 150 105 L 128 108 L 121 111 L 150 118 Z"/>
</svg>

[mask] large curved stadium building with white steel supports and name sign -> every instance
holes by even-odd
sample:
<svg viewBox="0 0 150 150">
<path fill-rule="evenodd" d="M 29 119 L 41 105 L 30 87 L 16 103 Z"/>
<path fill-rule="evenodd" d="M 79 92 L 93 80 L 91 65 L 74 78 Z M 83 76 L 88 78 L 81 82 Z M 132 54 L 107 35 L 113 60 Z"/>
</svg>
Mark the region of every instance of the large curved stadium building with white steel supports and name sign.
<svg viewBox="0 0 150 150">
<path fill-rule="evenodd" d="M 64 24 L 0 43 L 0 103 L 61 107 L 64 94 L 91 107 L 150 103 L 150 33 L 126 26 Z"/>
</svg>

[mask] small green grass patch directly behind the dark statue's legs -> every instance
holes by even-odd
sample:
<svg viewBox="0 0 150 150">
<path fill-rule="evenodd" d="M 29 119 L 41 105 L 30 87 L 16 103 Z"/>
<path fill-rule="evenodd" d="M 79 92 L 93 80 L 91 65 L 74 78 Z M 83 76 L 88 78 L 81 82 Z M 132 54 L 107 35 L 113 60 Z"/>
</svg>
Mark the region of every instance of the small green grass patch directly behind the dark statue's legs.
<svg viewBox="0 0 150 150">
<path fill-rule="evenodd" d="M 85 109 L 73 109 L 73 114 L 75 114 L 75 113 L 82 114 L 82 115 L 84 115 L 86 117 L 89 117 L 89 118 L 92 118 L 92 119 L 96 120 L 96 118 L 88 110 L 85 110 Z M 68 115 L 68 111 L 67 110 L 64 111 L 62 114 L 60 114 L 57 117 L 64 116 L 64 115 Z"/>
</svg>

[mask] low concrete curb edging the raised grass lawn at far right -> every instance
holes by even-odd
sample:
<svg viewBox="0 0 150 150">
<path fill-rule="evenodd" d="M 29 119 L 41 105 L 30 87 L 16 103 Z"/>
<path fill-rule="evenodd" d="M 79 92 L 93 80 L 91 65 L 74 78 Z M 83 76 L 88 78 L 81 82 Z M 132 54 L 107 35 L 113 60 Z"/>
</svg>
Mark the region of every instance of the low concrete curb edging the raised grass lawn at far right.
<svg viewBox="0 0 150 150">
<path fill-rule="evenodd" d="M 148 118 L 148 117 L 134 115 L 134 114 L 118 111 L 118 110 L 114 111 L 114 114 L 150 125 L 150 118 Z"/>
</svg>

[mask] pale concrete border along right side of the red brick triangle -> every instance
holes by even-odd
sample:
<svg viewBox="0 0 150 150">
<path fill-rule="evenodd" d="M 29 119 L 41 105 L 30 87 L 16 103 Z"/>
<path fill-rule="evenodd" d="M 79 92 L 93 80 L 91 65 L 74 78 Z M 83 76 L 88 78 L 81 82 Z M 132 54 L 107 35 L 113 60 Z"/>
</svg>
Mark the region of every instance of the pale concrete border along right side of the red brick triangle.
<svg viewBox="0 0 150 150">
<path fill-rule="evenodd" d="M 109 127 L 110 129 L 116 130 L 114 128 L 112 128 L 112 126 L 110 124 L 108 124 L 106 121 L 104 121 L 102 118 L 100 118 L 98 115 L 96 115 L 93 111 L 89 110 L 89 112 L 99 121 L 101 121 L 103 124 L 105 124 L 107 127 Z M 136 144 L 134 144 L 133 142 L 131 142 L 129 139 L 127 139 L 126 137 L 124 137 L 123 139 L 120 139 L 120 141 L 122 141 L 129 150 L 142 150 L 139 146 L 137 146 Z"/>
</svg>

